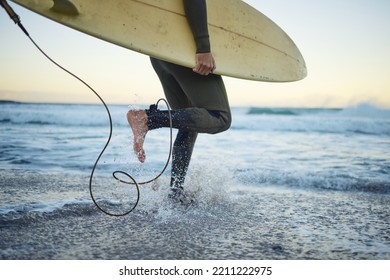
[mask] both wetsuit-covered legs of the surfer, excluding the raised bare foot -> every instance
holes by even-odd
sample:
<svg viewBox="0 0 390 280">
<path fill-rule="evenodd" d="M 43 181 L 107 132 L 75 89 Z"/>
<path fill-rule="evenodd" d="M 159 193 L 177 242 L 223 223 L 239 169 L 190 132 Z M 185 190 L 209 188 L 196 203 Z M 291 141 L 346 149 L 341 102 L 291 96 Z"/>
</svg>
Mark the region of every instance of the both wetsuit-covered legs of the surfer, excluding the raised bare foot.
<svg viewBox="0 0 390 280">
<path fill-rule="evenodd" d="M 205 77 L 189 68 L 153 58 L 151 61 L 172 108 L 172 126 L 179 129 L 173 146 L 171 188 L 174 199 L 180 201 L 197 134 L 228 129 L 229 102 L 220 76 Z M 151 107 L 147 116 L 149 130 L 170 126 L 166 110 Z"/>
</svg>

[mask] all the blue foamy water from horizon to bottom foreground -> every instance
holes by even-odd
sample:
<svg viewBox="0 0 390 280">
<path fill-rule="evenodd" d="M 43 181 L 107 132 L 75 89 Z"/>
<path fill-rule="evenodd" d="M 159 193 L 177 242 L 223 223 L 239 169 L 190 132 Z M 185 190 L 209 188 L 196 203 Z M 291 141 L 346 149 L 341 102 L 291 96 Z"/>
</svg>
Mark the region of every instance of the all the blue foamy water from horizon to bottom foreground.
<svg viewBox="0 0 390 280">
<path fill-rule="evenodd" d="M 146 106 L 138 106 L 145 108 Z M 200 135 L 187 207 L 168 199 L 169 130 L 132 152 L 128 106 L 0 103 L 0 259 L 390 259 L 390 110 L 233 108 Z M 175 134 L 175 131 L 173 132 Z M 128 180 L 120 175 L 121 179 Z"/>
</svg>

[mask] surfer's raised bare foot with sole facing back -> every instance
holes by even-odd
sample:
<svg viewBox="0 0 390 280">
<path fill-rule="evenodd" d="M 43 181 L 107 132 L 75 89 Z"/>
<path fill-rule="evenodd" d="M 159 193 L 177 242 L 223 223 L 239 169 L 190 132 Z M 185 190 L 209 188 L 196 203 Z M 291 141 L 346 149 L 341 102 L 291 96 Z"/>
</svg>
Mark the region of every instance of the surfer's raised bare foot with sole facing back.
<svg viewBox="0 0 390 280">
<path fill-rule="evenodd" d="M 133 130 L 134 152 L 140 162 L 145 161 L 144 141 L 148 132 L 148 116 L 145 110 L 130 110 L 127 112 L 127 121 Z"/>
</svg>

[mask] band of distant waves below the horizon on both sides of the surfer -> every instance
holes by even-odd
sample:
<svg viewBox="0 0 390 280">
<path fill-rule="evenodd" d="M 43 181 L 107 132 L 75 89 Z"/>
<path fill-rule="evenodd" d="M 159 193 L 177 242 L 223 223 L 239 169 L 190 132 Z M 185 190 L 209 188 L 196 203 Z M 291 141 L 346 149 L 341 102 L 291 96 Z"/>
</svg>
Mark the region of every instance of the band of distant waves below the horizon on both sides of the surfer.
<svg viewBox="0 0 390 280">
<path fill-rule="evenodd" d="M 101 127 L 109 120 L 101 105 L 0 104 L 0 123 L 5 125 Z M 128 126 L 126 106 L 110 106 L 114 127 Z M 390 134 L 390 110 L 370 104 L 332 108 L 232 108 L 233 129 L 356 132 Z"/>
</svg>

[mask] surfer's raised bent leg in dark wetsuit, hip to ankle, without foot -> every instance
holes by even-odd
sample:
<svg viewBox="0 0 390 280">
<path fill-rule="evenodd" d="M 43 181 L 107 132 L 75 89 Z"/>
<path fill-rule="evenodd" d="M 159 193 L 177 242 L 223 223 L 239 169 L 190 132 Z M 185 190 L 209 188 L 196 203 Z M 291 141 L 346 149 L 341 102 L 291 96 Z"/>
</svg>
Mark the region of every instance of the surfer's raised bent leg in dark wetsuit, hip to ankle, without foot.
<svg viewBox="0 0 390 280">
<path fill-rule="evenodd" d="M 151 59 L 171 106 L 173 127 L 199 133 L 218 133 L 231 124 L 229 102 L 218 75 L 201 76 L 192 69 Z M 149 129 L 169 127 L 167 111 L 151 111 Z"/>
</svg>

